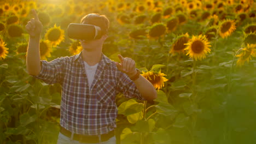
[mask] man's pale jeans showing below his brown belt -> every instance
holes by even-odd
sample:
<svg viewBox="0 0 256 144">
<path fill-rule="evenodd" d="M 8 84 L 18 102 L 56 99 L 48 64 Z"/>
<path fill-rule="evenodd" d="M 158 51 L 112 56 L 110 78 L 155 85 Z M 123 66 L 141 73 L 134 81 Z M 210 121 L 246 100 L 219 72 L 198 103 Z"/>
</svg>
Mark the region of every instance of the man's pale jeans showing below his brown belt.
<svg viewBox="0 0 256 144">
<path fill-rule="evenodd" d="M 115 144 L 115 136 L 111 137 L 108 141 L 103 141 L 101 144 Z M 95 143 L 81 143 L 79 141 L 70 140 L 69 137 L 59 133 L 57 144 L 95 144 Z"/>
</svg>

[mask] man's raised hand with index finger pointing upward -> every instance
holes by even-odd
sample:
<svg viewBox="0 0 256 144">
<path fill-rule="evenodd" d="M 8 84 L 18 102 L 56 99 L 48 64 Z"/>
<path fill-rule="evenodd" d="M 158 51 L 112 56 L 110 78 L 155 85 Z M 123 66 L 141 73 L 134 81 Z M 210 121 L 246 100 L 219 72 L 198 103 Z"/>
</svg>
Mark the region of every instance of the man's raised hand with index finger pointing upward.
<svg viewBox="0 0 256 144">
<path fill-rule="evenodd" d="M 28 34 L 30 34 L 30 37 L 39 38 L 43 29 L 43 25 L 38 19 L 36 10 L 32 9 L 31 13 L 33 14 L 34 19 L 31 19 L 27 22 L 26 29 Z"/>
</svg>

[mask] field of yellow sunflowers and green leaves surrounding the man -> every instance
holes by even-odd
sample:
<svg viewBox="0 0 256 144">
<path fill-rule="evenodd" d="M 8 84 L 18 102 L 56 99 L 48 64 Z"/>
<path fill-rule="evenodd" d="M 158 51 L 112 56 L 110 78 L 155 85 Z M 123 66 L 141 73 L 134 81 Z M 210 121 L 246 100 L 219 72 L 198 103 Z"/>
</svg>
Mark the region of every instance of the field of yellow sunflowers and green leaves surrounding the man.
<svg viewBox="0 0 256 144">
<path fill-rule="evenodd" d="M 0 1 L 0 143 L 56 143 L 61 86 L 26 72 L 36 9 L 40 57 L 82 51 L 69 23 L 89 13 L 110 21 L 103 53 L 135 60 L 154 101 L 118 94 L 117 143 L 256 143 L 255 0 Z"/>
</svg>

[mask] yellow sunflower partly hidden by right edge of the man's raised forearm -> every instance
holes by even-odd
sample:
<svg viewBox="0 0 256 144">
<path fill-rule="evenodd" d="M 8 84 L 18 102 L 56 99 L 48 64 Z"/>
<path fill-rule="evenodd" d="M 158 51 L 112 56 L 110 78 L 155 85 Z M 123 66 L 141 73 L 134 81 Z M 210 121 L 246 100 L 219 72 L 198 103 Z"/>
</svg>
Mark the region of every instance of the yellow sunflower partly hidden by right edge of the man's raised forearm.
<svg viewBox="0 0 256 144">
<path fill-rule="evenodd" d="M 46 59 L 46 57 L 51 57 L 52 52 L 50 41 L 40 40 L 40 58 Z"/>
</svg>

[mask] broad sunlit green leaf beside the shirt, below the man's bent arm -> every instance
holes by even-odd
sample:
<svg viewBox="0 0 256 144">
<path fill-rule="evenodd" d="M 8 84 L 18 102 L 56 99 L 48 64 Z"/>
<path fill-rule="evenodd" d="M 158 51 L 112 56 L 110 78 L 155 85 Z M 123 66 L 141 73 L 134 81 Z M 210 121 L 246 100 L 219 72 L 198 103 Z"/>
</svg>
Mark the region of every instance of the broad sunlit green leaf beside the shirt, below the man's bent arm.
<svg viewBox="0 0 256 144">
<path fill-rule="evenodd" d="M 144 109 L 144 104 L 138 103 L 134 99 L 130 99 L 122 103 L 118 107 L 118 114 L 129 116 L 134 113 L 141 112 Z"/>
</svg>

